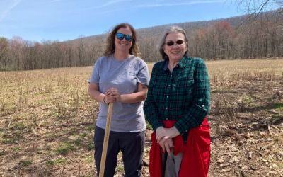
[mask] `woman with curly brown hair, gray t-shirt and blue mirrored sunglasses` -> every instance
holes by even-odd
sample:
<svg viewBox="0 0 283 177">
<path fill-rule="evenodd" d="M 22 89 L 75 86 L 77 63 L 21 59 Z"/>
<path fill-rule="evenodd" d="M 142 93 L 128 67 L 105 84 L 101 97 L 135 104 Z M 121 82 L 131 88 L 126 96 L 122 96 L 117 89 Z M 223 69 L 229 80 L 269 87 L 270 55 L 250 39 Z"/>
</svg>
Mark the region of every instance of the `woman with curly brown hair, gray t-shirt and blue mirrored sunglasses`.
<svg viewBox="0 0 283 177">
<path fill-rule="evenodd" d="M 99 102 L 94 135 L 97 174 L 103 150 L 108 103 L 114 103 L 104 176 L 114 176 L 122 151 L 125 176 L 140 176 L 144 152 L 143 101 L 149 85 L 146 62 L 139 58 L 136 30 L 129 23 L 116 25 L 108 35 L 103 57 L 94 64 L 88 93 Z"/>
</svg>

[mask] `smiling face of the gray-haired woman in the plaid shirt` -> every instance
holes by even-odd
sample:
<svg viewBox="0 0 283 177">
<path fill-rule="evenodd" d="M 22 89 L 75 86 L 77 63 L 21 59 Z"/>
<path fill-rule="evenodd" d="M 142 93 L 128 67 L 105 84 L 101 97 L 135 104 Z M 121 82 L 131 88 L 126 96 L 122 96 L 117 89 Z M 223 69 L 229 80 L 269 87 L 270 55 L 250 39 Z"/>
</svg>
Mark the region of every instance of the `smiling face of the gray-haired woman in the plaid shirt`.
<svg viewBox="0 0 283 177">
<path fill-rule="evenodd" d="M 183 40 L 183 43 L 180 44 L 180 40 Z M 167 43 L 173 41 L 174 44 L 168 46 Z M 177 43 L 176 43 L 177 42 Z M 171 42 L 172 43 L 172 42 Z M 169 60 L 178 62 L 183 58 L 185 52 L 187 51 L 187 45 L 185 42 L 185 35 L 182 33 L 169 33 L 166 36 L 165 45 L 163 47 L 164 52 L 168 55 Z"/>
</svg>

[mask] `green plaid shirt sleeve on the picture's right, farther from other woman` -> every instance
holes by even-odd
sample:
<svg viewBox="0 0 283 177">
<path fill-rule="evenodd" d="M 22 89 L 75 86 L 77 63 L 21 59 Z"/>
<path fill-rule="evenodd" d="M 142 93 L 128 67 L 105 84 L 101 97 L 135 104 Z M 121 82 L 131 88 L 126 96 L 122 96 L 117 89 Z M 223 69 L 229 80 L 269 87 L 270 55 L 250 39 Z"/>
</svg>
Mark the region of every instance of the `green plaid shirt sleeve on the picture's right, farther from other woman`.
<svg viewBox="0 0 283 177">
<path fill-rule="evenodd" d="M 187 132 L 192 127 L 201 125 L 209 112 L 209 76 L 203 59 L 198 59 L 197 61 L 194 80 L 192 106 L 174 125 L 181 134 Z"/>
</svg>

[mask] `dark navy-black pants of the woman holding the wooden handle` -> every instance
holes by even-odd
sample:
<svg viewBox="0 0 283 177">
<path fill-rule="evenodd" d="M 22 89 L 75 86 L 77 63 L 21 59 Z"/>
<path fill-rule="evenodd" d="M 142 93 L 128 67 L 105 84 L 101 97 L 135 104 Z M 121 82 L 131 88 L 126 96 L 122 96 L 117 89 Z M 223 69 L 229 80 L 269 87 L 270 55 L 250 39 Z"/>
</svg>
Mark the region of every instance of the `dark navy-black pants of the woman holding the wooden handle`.
<svg viewBox="0 0 283 177">
<path fill-rule="evenodd" d="M 94 133 L 94 159 L 96 160 L 97 175 L 99 175 L 100 161 L 103 149 L 105 130 L 96 127 Z M 141 176 L 142 156 L 144 154 L 143 132 L 112 132 L 110 131 L 108 151 L 105 161 L 105 177 L 112 177 L 117 166 L 117 154 L 122 151 L 125 177 Z"/>
</svg>

